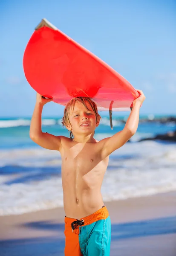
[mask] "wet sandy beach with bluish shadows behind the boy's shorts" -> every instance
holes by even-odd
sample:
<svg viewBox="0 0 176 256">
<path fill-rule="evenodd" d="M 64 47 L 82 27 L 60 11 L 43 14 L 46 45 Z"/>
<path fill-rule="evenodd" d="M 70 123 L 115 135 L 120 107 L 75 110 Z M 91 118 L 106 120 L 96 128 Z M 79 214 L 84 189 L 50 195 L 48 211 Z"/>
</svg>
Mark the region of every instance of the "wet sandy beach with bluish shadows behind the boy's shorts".
<svg viewBox="0 0 176 256">
<path fill-rule="evenodd" d="M 176 192 L 104 202 L 111 256 L 176 256 Z M 62 207 L 0 217 L 0 256 L 64 255 Z"/>
</svg>

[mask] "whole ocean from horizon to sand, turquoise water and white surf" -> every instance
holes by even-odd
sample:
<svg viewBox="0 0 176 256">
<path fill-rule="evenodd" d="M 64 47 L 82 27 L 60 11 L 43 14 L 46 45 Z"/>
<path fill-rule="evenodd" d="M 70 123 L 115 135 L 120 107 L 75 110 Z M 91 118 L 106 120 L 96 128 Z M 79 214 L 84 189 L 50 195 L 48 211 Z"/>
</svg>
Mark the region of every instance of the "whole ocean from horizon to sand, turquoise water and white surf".
<svg viewBox="0 0 176 256">
<path fill-rule="evenodd" d="M 102 116 L 102 115 L 101 115 Z M 155 116 L 162 117 L 162 116 Z M 140 116 L 140 120 L 148 116 Z M 94 138 L 111 137 L 124 128 L 126 116 L 102 116 Z M 149 118 L 150 119 L 150 118 Z M 0 215 L 63 207 L 61 155 L 29 138 L 31 118 L 0 119 Z M 176 143 L 145 140 L 176 130 L 176 122 L 139 122 L 136 134 L 110 155 L 101 187 L 104 201 L 176 190 Z M 61 117 L 43 118 L 42 131 L 69 137 Z"/>
</svg>

